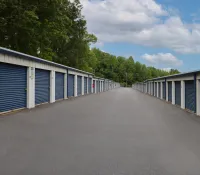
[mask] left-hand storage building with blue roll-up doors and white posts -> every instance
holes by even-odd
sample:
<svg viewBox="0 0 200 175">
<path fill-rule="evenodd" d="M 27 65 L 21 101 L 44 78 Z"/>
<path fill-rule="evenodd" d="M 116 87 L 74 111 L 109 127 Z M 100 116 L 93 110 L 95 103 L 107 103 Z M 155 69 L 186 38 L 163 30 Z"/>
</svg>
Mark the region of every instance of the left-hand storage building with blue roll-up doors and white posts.
<svg viewBox="0 0 200 175">
<path fill-rule="evenodd" d="M 0 114 L 91 93 L 92 78 L 89 72 L 0 47 Z"/>
</svg>

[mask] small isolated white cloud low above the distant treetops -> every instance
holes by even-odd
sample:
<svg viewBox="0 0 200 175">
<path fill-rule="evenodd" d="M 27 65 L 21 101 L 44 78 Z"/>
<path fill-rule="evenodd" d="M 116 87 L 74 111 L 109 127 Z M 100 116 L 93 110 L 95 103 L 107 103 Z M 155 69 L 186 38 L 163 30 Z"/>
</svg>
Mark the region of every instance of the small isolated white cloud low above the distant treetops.
<svg viewBox="0 0 200 175">
<path fill-rule="evenodd" d="M 183 64 L 182 60 L 179 60 L 171 53 L 144 54 L 142 58 L 153 65 L 180 66 Z"/>
</svg>

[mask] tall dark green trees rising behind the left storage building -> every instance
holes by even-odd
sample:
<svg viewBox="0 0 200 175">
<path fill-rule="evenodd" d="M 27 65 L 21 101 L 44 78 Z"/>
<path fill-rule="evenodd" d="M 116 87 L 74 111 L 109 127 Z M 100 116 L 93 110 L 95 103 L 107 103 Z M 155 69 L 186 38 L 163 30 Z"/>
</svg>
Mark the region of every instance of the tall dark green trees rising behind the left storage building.
<svg viewBox="0 0 200 175">
<path fill-rule="evenodd" d="M 1 0 L 0 45 L 80 69 L 88 69 L 90 43 L 79 0 Z M 90 69 L 90 68 L 89 68 Z"/>
</svg>

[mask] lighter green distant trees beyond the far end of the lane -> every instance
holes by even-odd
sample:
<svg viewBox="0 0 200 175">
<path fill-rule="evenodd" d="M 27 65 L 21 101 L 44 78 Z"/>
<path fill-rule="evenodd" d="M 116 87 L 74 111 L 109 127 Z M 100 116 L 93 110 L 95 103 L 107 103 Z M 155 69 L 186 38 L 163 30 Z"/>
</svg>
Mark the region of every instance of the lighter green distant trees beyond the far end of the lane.
<svg viewBox="0 0 200 175">
<path fill-rule="evenodd" d="M 109 53 L 105 53 L 97 48 L 91 50 L 95 54 L 97 62 L 94 72 L 97 76 L 113 79 L 122 85 L 131 86 L 133 83 L 142 82 L 147 79 L 167 76 L 179 73 L 176 69 L 165 71 L 154 67 L 147 67 L 138 61 L 134 61 L 133 57 L 117 57 Z"/>
</svg>

